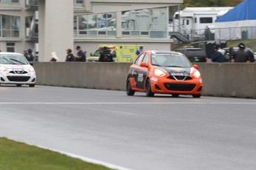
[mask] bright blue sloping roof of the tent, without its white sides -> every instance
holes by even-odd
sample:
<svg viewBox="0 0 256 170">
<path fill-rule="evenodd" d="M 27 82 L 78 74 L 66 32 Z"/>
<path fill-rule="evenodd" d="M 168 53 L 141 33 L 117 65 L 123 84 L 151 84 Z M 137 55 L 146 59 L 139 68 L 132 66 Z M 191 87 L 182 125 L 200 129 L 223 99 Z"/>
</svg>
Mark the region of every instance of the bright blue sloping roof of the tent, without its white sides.
<svg viewBox="0 0 256 170">
<path fill-rule="evenodd" d="M 244 0 L 237 4 L 232 10 L 229 10 L 215 22 L 242 21 L 256 19 L 256 0 Z"/>
</svg>

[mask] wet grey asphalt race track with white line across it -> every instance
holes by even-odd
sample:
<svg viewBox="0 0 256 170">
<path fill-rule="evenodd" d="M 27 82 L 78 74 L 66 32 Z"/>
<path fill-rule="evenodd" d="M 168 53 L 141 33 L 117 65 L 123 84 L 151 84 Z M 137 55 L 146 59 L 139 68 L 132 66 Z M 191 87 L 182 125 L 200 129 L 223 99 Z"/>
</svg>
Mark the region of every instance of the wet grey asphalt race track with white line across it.
<svg viewBox="0 0 256 170">
<path fill-rule="evenodd" d="M 256 169 L 256 100 L 53 86 L 0 94 L 0 137 L 126 169 Z"/>
</svg>

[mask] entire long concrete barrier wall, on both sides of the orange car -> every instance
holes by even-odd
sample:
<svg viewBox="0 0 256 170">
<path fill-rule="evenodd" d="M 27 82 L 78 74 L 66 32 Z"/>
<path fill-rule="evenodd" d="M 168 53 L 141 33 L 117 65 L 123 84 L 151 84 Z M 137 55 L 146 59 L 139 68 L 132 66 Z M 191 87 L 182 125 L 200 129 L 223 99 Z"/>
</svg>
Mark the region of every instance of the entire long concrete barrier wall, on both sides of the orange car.
<svg viewBox="0 0 256 170">
<path fill-rule="evenodd" d="M 35 62 L 36 84 L 125 90 L 131 63 Z M 197 64 L 203 95 L 256 98 L 256 64 Z"/>
</svg>

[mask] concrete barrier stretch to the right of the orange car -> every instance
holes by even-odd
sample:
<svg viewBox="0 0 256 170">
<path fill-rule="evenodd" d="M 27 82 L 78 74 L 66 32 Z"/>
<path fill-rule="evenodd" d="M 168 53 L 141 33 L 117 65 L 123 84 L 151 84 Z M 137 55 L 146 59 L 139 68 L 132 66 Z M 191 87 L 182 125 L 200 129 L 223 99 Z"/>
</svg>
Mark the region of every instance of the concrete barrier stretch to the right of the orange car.
<svg viewBox="0 0 256 170">
<path fill-rule="evenodd" d="M 256 98 L 256 64 L 198 64 L 203 95 Z"/>
</svg>

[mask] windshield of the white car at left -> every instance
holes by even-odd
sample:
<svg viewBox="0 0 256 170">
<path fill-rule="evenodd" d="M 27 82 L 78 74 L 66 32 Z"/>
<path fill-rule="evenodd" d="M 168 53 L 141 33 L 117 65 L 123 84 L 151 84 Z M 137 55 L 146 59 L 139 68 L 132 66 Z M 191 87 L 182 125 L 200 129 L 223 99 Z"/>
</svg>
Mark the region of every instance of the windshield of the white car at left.
<svg viewBox="0 0 256 170">
<path fill-rule="evenodd" d="M 0 55 L 0 64 L 19 64 L 19 65 L 25 65 L 29 64 L 24 58 L 23 55 Z"/>
</svg>

